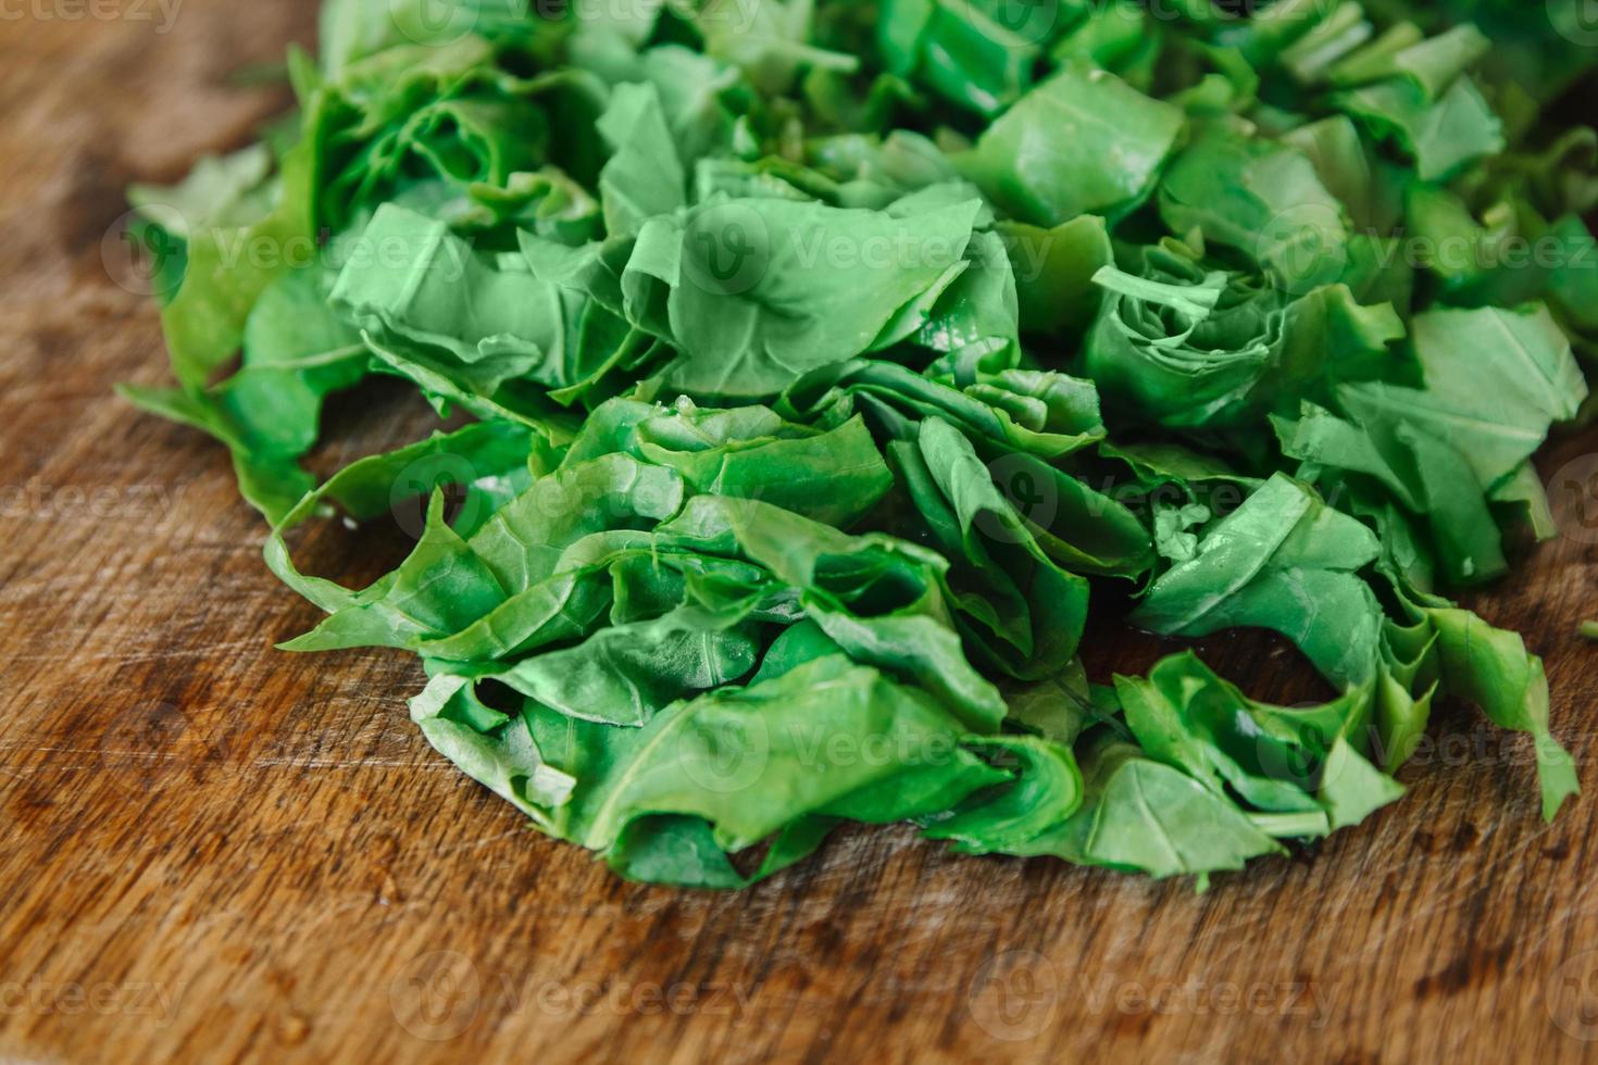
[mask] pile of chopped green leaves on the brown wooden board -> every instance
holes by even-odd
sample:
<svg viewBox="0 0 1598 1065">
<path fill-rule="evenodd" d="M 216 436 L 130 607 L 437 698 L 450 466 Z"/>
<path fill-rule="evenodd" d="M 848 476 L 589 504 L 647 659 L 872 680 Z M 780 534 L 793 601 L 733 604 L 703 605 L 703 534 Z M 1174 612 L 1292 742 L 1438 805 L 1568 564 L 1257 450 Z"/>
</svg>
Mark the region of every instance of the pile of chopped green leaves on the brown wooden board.
<svg viewBox="0 0 1598 1065">
<path fill-rule="evenodd" d="M 1568 8 L 328 0 L 291 118 L 133 190 L 177 388 L 123 391 L 232 452 L 289 650 L 419 655 L 427 739 L 633 880 L 909 821 L 1202 886 L 1398 798 L 1443 698 L 1552 818 L 1542 664 L 1443 594 L 1553 533 L 1598 354 Z M 376 375 L 447 420 L 318 484 Z M 297 568 L 419 493 L 387 576 Z M 1123 621 L 1336 698 L 1090 682 Z"/>
</svg>

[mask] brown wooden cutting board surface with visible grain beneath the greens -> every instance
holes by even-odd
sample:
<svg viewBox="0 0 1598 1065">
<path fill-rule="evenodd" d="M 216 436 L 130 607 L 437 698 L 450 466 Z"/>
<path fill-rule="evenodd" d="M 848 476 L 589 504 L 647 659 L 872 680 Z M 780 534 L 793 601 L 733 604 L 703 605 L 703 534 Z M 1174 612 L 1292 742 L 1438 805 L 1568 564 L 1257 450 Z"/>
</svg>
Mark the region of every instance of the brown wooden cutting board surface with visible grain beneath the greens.
<svg viewBox="0 0 1598 1065">
<path fill-rule="evenodd" d="M 1566 535 L 1472 604 L 1547 658 L 1592 792 L 1552 827 L 1529 744 L 1445 711 L 1405 802 L 1205 896 L 904 830 L 743 894 L 620 883 L 427 747 L 407 656 L 273 651 L 315 610 L 224 452 L 109 394 L 165 380 L 107 268 L 123 185 L 244 144 L 284 97 L 229 75 L 308 42 L 312 5 L 85 10 L 0 21 L 0 1060 L 1592 1057 L 1598 511 L 1566 484 L 1598 436 L 1544 465 Z M 318 463 L 423 415 L 336 406 Z M 337 529 L 302 557 L 393 560 Z M 1111 632 L 1088 659 L 1160 650 Z M 1205 651 L 1314 695 L 1275 645 Z"/>
</svg>

